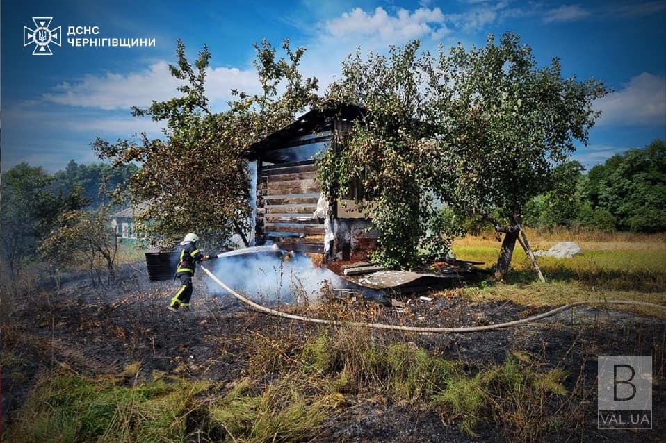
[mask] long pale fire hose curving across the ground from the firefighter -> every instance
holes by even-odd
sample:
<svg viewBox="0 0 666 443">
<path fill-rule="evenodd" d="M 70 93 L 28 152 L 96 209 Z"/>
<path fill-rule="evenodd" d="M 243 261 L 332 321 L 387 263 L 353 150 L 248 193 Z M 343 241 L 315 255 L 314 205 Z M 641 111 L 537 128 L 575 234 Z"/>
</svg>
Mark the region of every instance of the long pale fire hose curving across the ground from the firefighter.
<svg viewBox="0 0 666 443">
<path fill-rule="evenodd" d="M 306 321 L 307 323 L 318 323 L 318 324 L 330 324 L 332 326 L 357 326 L 362 328 L 374 328 L 374 329 L 389 329 L 391 331 L 407 331 L 415 333 L 473 333 L 473 332 L 487 332 L 495 331 L 496 329 L 501 328 L 510 328 L 512 326 L 520 326 L 523 324 L 532 323 L 534 321 L 545 319 L 546 317 L 552 317 L 553 315 L 559 314 L 562 311 L 574 308 L 574 306 L 581 305 L 599 305 L 599 304 L 608 304 L 608 305 L 633 305 L 633 306 L 646 306 L 648 308 L 657 308 L 666 310 L 666 306 L 658 305 L 656 303 L 648 303 L 647 301 L 632 301 L 632 300 L 591 300 L 591 301 L 574 301 L 573 303 L 560 306 L 544 312 L 543 314 L 533 315 L 532 317 L 527 317 L 526 319 L 507 321 L 505 323 L 498 324 L 489 324 L 486 326 L 464 326 L 461 328 L 428 328 L 428 327 L 419 327 L 419 326 L 400 326 L 393 324 L 383 324 L 383 323 L 362 323 L 359 321 L 335 321 L 335 320 L 325 320 L 325 319 L 312 319 L 309 317 L 302 317 L 301 315 L 287 314 L 286 312 L 280 312 L 279 310 L 274 310 L 266 308 L 266 306 L 261 306 L 259 303 L 247 299 L 247 297 L 238 294 L 238 292 L 232 290 L 231 287 L 225 285 L 219 278 L 217 278 L 211 271 L 206 267 L 202 266 L 201 269 L 208 274 L 210 278 L 213 279 L 215 283 L 218 283 L 222 289 L 232 294 L 236 299 L 240 300 L 250 308 L 263 312 L 264 314 L 273 315 L 274 317 L 283 317 L 286 319 L 292 319 L 297 321 Z"/>
</svg>

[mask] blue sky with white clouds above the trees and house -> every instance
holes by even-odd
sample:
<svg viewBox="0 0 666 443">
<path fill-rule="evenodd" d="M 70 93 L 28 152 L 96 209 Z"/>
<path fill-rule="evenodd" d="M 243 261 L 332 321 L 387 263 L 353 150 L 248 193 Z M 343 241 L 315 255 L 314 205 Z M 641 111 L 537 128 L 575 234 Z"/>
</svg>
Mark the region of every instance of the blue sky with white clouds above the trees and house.
<svg viewBox="0 0 666 443">
<path fill-rule="evenodd" d="M 229 90 L 257 90 L 252 44 L 279 46 L 288 37 L 308 48 L 305 74 L 322 89 L 341 60 L 360 46 L 386 51 L 419 38 L 425 49 L 456 42 L 481 45 L 487 33 L 515 31 L 537 62 L 562 60 L 566 76 L 600 78 L 615 92 L 596 103 L 603 117 L 585 165 L 666 138 L 666 1 L 5 1 L 1 3 L 1 168 L 18 162 L 54 172 L 70 159 L 96 161 L 90 142 L 131 138 L 159 126 L 132 118 L 129 107 L 168 99 L 175 41 L 188 54 L 207 44 L 213 58 L 207 93 L 222 110 Z M 50 45 L 53 56 L 23 46 L 31 17 L 54 17 L 50 28 L 99 26 L 97 37 L 148 37 L 155 47 Z M 81 36 L 83 37 L 83 36 Z"/>
</svg>

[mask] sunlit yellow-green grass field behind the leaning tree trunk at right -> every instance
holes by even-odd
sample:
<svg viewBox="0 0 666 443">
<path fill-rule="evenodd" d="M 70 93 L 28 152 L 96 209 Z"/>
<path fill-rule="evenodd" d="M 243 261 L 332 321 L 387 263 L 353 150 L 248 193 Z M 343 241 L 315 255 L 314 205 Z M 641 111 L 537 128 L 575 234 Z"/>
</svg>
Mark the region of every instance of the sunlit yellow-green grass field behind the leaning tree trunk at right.
<svg viewBox="0 0 666 443">
<path fill-rule="evenodd" d="M 534 250 L 574 241 L 583 253 L 574 258 L 537 257 L 546 278 L 546 283 L 541 283 L 526 253 L 517 246 L 504 283 L 496 283 L 489 276 L 464 293 L 478 299 L 506 299 L 533 306 L 591 299 L 666 303 L 666 237 L 662 234 L 588 232 L 577 236 L 569 231 L 528 231 L 527 235 Z M 453 251 L 460 260 L 484 262 L 480 267 L 490 269 L 496 263 L 500 245 L 499 237 L 489 233 L 457 239 Z"/>
</svg>

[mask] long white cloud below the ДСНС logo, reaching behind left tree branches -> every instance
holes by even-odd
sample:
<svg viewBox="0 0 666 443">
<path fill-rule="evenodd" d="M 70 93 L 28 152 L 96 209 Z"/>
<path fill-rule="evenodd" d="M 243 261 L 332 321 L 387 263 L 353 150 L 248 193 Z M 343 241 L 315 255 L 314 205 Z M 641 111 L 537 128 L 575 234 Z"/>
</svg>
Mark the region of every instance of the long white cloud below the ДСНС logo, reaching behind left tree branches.
<svg viewBox="0 0 666 443">
<path fill-rule="evenodd" d="M 159 61 L 142 72 L 117 74 L 109 72 L 96 76 L 87 74 L 80 81 L 64 82 L 44 94 L 42 99 L 69 106 L 100 108 L 103 110 L 127 109 L 130 106 L 148 106 L 152 100 L 173 97 L 180 81 L 169 72 L 169 65 Z M 209 69 L 206 92 L 211 101 L 229 99 L 230 90 L 257 89 L 254 69 L 217 67 Z"/>
</svg>

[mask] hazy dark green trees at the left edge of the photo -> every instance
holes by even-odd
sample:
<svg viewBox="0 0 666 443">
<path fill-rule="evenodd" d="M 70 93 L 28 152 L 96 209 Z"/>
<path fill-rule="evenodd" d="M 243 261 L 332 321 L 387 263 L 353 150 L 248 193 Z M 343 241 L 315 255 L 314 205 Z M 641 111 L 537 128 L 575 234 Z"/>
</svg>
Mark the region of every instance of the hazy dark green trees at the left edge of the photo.
<svg viewBox="0 0 666 443">
<path fill-rule="evenodd" d="M 40 255 L 44 240 L 60 234 L 64 228 L 76 230 L 79 236 L 72 236 L 58 246 L 81 244 L 86 233 L 83 228 L 91 225 L 91 219 L 95 221 L 100 214 L 108 214 L 122 206 L 111 201 L 109 195 L 122 190 L 123 183 L 136 170 L 135 165 L 77 165 L 71 160 L 63 171 L 55 174 L 26 163 L 3 172 L 0 253 L 9 268 L 9 275 L 17 276 L 26 262 Z M 122 192 L 115 194 L 122 197 Z M 99 226 L 97 231 L 102 231 L 101 223 L 95 226 Z M 44 255 L 44 251 L 41 252 Z"/>
</svg>

